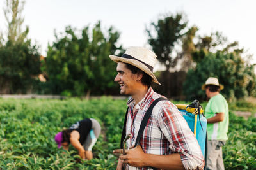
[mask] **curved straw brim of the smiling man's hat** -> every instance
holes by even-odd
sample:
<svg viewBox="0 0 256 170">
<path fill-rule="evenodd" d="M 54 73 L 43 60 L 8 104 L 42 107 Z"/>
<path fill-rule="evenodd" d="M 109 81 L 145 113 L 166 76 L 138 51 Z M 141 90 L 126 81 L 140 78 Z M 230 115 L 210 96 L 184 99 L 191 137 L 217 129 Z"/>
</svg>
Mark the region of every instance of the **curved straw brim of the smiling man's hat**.
<svg viewBox="0 0 256 170">
<path fill-rule="evenodd" d="M 134 60 L 134 59 L 126 59 L 126 58 L 118 57 L 118 56 L 115 56 L 115 55 L 109 55 L 109 58 L 111 60 L 113 60 L 114 62 L 116 62 L 116 63 L 125 62 L 127 64 L 131 64 L 132 66 L 138 67 L 139 69 L 141 69 L 142 71 L 147 73 L 149 76 L 151 76 L 153 78 L 154 83 L 157 83 L 157 84 L 161 85 L 157 81 L 156 76 L 152 73 L 152 71 L 150 71 L 150 69 L 148 69 L 148 67 L 145 66 L 144 64 L 142 64 L 140 61 Z"/>
</svg>

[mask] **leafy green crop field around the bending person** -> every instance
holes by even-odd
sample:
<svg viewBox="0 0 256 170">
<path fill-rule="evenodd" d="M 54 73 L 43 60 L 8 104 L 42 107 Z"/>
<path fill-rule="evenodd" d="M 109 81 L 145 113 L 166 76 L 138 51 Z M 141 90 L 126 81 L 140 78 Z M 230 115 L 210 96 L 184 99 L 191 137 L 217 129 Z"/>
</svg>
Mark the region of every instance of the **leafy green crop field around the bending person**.
<svg viewBox="0 0 256 170">
<path fill-rule="evenodd" d="M 126 101 L 101 99 L 0 99 L 0 169 L 115 169 Z M 95 118 L 102 134 L 92 160 L 77 163 L 77 152 L 57 148 L 54 136 L 77 120 Z M 256 118 L 230 111 L 226 169 L 256 169 Z"/>
</svg>

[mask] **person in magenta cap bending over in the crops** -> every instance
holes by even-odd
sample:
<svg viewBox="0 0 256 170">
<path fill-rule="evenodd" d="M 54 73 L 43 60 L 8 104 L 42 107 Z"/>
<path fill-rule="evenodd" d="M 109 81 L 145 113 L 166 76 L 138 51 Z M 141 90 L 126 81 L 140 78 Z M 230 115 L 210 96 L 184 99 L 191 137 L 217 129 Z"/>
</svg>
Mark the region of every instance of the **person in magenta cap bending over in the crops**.
<svg viewBox="0 0 256 170">
<path fill-rule="evenodd" d="M 92 147 L 100 135 L 101 127 L 99 122 L 93 118 L 85 118 L 71 125 L 69 129 L 58 132 L 55 141 L 58 148 L 68 150 L 69 144 L 74 146 L 80 157 L 85 160 L 93 158 Z"/>
</svg>

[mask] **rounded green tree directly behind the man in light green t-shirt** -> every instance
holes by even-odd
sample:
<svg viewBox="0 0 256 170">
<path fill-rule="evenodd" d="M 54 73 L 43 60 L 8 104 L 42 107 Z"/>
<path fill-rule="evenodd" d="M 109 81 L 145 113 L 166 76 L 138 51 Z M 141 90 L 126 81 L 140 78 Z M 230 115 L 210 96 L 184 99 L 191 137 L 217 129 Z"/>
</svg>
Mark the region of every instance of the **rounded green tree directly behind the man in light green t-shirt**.
<svg viewBox="0 0 256 170">
<path fill-rule="evenodd" d="M 224 89 L 221 91 L 228 99 L 243 98 L 256 92 L 256 76 L 253 66 L 244 62 L 240 53 L 207 53 L 197 63 L 195 69 L 188 71 L 184 83 L 187 99 L 204 99 L 201 86 L 209 76 L 218 78 Z"/>
</svg>

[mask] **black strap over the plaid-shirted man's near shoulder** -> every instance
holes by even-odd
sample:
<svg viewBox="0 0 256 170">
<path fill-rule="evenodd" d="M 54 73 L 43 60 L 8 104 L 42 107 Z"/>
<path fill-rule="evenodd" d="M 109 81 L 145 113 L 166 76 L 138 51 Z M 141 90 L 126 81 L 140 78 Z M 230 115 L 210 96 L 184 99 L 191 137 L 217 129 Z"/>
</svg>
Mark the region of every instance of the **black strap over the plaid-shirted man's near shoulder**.
<svg viewBox="0 0 256 170">
<path fill-rule="evenodd" d="M 154 100 L 152 102 L 152 104 L 149 106 L 147 112 L 145 113 L 144 117 L 143 117 L 143 120 L 140 124 L 140 129 L 139 129 L 139 132 L 138 132 L 138 135 L 137 135 L 137 138 L 136 138 L 136 142 L 135 142 L 135 145 L 134 147 L 136 147 L 140 141 L 140 138 L 141 138 L 141 135 L 143 134 L 143 131 L 148 123 L 148 120 L 150 118 L 150 115 L 152 114 L 152 111 L 153 111 L 153 108 L 154 106 L 159 102 L 159 101 L 167 101 L 166 98 L 164 97 L 159 97 L 158 99 Z"/>
</svg>

